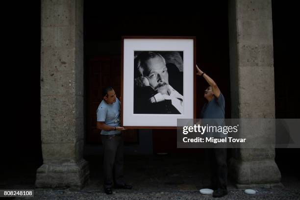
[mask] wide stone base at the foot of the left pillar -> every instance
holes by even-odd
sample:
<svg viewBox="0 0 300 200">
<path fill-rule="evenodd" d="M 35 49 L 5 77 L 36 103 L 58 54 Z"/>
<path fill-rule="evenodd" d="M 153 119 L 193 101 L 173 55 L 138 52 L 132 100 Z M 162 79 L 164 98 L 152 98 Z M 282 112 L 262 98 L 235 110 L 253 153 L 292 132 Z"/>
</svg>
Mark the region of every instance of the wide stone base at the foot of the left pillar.
<svg viewBox="0 0 300 200">
<path fill-rule="evenodd" d="M 72 188 L 80 190 L 89 180 L 88 162 L 43 164 L 36 171 L 37 188 Z"/>
</svg>

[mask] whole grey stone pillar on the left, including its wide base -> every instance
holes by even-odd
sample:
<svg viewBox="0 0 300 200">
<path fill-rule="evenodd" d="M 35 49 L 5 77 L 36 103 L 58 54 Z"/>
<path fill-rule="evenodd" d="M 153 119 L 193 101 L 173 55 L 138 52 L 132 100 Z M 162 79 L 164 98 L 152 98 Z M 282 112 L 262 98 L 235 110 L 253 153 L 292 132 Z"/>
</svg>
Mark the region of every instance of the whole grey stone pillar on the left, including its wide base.
<svg viewBox="0 0 300 200">
<path fill-rule="evenodd" d="M 41 133 L 43 165 L 36 187 L 82 188 L 83 0 L 41 3 Z"/>
</svg>

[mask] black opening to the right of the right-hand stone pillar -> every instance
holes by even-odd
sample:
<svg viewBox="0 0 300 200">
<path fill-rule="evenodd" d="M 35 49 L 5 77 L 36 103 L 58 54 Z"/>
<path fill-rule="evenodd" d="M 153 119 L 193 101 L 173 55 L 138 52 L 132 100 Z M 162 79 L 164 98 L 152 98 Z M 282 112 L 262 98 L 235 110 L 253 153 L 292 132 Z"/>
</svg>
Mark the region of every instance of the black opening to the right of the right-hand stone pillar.
<svg viewBox="0 0 300 200">
<path fill-rule="evenodd" d="M 296 19 L 299 19 L 299 12 L 293 8 L 297 8 L 296 4 L 272 0 L 275 117 L 277 119 L 300 118 L 299 29 L 291 29 Z M 280 172 L 299 179 L 300 164 L 295 158 L 299 156 L 300 149 L 275 149 L 275 152 L 275 161 Z"/>
</svg>

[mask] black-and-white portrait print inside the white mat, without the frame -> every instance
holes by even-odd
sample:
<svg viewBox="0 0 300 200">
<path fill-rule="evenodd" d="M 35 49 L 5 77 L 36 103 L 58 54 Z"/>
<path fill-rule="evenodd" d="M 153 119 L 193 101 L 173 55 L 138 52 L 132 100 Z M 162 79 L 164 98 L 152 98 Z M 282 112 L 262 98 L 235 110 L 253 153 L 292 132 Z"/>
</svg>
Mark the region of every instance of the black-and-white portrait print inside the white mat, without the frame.
<svg viewBox="0 0 300 200">
<path fill-rule="evenodd" d="M 183 114 L 183 51 L 134 51 L 133 114 Z"/>
</svg>

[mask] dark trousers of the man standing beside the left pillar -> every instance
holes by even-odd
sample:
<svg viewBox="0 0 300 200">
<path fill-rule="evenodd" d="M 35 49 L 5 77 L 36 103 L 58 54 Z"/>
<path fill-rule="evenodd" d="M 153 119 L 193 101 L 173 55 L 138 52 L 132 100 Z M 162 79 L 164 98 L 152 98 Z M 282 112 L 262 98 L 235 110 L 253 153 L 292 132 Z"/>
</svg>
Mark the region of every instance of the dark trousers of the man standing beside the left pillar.
<svg viewBox="0 0 300 200">
<path fill-rule="evenodd" d="M 123 185 L 123 147 L 122 134 L 102 135 L 104 188 L 114 184 Z"/>
</svg>

